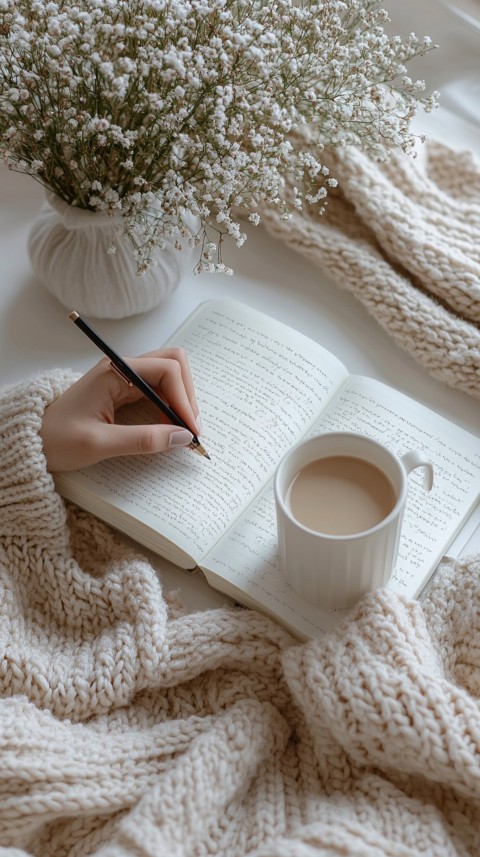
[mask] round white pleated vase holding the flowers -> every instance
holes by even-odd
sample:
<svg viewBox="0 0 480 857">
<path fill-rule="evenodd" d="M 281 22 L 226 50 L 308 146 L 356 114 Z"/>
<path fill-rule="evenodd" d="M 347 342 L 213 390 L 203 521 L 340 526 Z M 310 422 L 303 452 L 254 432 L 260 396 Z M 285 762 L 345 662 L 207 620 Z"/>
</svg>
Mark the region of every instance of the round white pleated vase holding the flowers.
<svg viewBox="0 0 480 857">
<path fill-rule="evenodd" d="M 195 227 L 194 218 L 185 218 Z M 185 270 L 193 268 L 194 250 L 172 238 L 157 253 L 157 264 L 142 275 L 131 246 L 116 237 L 108 214 L 87 211 L 47 191 L 46 202 L 28 238 L 34 272 L 67 309 L 94 318 L 124 318 L 147 312 L 177 288 Z"/>
</svg>

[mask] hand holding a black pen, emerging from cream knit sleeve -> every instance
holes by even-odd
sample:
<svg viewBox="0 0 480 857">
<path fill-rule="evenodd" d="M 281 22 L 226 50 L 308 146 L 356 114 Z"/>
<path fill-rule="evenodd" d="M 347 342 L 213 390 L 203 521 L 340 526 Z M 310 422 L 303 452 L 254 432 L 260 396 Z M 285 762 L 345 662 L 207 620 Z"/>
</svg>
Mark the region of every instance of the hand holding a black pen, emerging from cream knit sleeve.
<svg viewBox="0 0 480 857">
<path fill-rule="evenodd" d="M 127 362 L 191 426 L 192 432 L 201 433 L 183 348 L 164 348 Z M 115 411 L 142 398 L 136 387 L 130 387 L 112 369 L 107 358 L 101 360 L 45 410 L 41 437 L 48 469 L 77 470 L 117 455 L 188 446 L 192 432 L 173 426 L 159 409 L 158 424 L 115 425 Z"/>
</svg>

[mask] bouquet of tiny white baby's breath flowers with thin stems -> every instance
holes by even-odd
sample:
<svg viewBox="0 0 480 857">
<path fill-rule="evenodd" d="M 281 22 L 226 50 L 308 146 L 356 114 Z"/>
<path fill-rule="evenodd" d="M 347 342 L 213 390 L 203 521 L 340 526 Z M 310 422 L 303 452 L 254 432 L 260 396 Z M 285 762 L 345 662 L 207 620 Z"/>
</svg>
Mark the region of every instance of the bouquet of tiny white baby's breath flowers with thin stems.
<svg viewBox="0 0 480 857">
<path fill-rule="evenodd" d="M 287 176 L 323 210 L 324 147 L 412 150 L 436 93 L 406 63 L 432 44 L 387 20 L 377 0 L 0 0 L 2 157 L 112 215 L 139 273 L 172 235 L 229 273 L 224 236 L 264 204 L 289 217 Z"/>
</svg>

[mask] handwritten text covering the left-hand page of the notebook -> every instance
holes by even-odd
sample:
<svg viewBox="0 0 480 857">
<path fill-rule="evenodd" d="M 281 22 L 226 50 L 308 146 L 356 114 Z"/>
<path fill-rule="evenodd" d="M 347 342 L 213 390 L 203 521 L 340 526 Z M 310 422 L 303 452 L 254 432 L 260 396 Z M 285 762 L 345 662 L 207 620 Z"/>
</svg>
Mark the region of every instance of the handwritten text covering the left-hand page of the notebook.
<svg viewBox="0 0 480 857">
<path fill-rule="evenodd" d="M 300 352 L 295 334 L 259 329 L 207 307 L 177 340 L 187 349 L 211 461 L 182 450 L 121 458 L 85 471 L 98 490 L 198 559 L 219 538 L 304 433 L 341 371 Z"/>
</svg>

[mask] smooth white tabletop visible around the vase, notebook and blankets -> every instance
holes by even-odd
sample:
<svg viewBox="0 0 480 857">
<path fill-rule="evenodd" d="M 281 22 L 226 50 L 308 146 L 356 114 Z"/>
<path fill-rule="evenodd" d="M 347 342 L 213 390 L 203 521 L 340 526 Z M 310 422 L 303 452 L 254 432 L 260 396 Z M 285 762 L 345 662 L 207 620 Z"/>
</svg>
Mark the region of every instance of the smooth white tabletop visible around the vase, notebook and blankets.
<svg viewBox="0 0 480 857">
<path fill-rule="evenodd" d="M 385 4 L 392 7 L 395 4 Z M 416 76 L 428 77 L 444 92 L 433 114 L 419 114 L 416 127 L 455 148 L 480 157 L 480 0 L 402 0 L 392 13 L 394 29 L 428 34 L 441 47 Z M 418 62 L 418 61 L 417 61 Z M 66 309 L 33 275 L 26 242 L 42 204 L 43 189 L 30 177 L 0 167 L 0 386 L 34 371 L 70 366 L 85 371 L 96 362 L 91 343 L 72 335 Z M 434 380 L 401 351 L 348 292 L 339 290 L 306 259 L 252 227 L 241 249 L 225 247 L 233 277 L 187 275 L 179 289 L 146 315 L 95 322 L 123 354 L 159 347 L 203 300 L 223 295 L 285 321 L 333 351 L 355 373 L 370 375 L 404 391 L 438 413 L 480 434 L 478 401 Z M 480 526 L 468 542 L 480 550 Z M 216 606 L 228 599 L 212 590 L 200 574 L 187 574 L 155 560 L 167 588 L 180 588 L 190 609 Z"/>
</svg>

